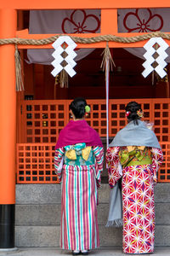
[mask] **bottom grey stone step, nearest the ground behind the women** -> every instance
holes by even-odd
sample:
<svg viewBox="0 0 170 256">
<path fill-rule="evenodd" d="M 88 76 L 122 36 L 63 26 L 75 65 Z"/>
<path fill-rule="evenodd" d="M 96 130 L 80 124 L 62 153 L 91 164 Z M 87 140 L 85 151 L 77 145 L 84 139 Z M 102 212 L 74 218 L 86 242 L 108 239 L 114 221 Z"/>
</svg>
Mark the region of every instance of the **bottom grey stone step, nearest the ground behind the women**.
<svg viewBox="0 0 170 256">
<path fill-rule="evenodd" d="M 59 247 L 60 226 L 16 226 L 16 247 Z M 99 225 L 100 246 L 122 247 L 122 228 Z M 156 225 L 156 246 L 168 247 L 170 226 Z"/>
</svg>

